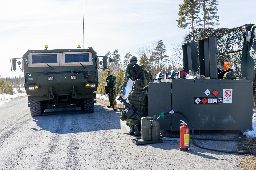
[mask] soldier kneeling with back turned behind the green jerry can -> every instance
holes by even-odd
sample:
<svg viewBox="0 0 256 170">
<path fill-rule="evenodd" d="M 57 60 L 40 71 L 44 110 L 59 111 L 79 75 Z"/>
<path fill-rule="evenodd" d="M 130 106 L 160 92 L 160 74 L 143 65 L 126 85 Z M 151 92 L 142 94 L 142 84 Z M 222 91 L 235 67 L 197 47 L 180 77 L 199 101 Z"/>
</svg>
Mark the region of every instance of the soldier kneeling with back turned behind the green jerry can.
<svg viewBox="0 0 256 170">
<path fill-rule="evenodd" d="M 140 117 L 145 117 L 148 115 L 147 113 L 147 93 L 142 91 L 142 81 L 141 80 L 135 80 L 134 82 L 134 91 L 129 93 L 128 95 L 129 104 L 133 105 L 136 110 L 135 112 Z M 136 116 L 133 115 L 130 118 L 126 119 L 127 124 L 130 125 L 130 133 L 129 135 L 133 135 L 135 132 L 135 136 L 141 136 L 140 129 L 141 129 L 141 123 L 139 120 L 137 120 Z"/>
</svg>

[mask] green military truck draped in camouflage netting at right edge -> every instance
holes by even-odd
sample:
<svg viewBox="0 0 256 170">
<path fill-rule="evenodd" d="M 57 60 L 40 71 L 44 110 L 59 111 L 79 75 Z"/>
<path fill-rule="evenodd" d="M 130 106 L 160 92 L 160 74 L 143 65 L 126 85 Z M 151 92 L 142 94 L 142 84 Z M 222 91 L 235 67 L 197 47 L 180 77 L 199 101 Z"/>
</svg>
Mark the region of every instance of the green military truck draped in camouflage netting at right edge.
<svg viewBox="0 0 256 170">
<path fill-rule="evenodd" d="M 253 82 L 253 105 L 256 106 L 256 24 L 245 24 L 236 28 L 196 29 L 185 43 L 199 42 L 206 37 L 217 37 L 218 69 L 232 69 L 237 79 Z M 200 54 L 200 49 L 199 49 Z M 199 61 L 200 63 L 200 61 Z M 204 65 L 204 63 L 202 64 Z M 202 74 L 203 75 L 203 74 Z"/>
</svg>

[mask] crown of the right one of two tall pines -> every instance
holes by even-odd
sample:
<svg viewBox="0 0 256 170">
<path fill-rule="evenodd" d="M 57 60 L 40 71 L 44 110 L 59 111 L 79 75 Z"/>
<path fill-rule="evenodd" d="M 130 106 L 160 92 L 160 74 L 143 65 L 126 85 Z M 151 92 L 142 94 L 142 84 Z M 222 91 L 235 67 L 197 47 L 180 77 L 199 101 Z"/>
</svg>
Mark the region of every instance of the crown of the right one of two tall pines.
<svg viewBox="0 0 256 170">
<path fill-rule="evenodd" d="M 203 9 L 203 13 L 202 15 L 202 21 L 203 24 L 200 24 L 201 26 L 215 26 L 215 25 L 219 25 L 219 17 L 216 15 L 217 14 L 217 6 L 218 4 L 216 4 L 218 2 L 218 0 L 201 0 L 201 4 L 202 4 L 202 9 Z M 217 23 L 215 23 L 215 20 Z"/>
</svg>

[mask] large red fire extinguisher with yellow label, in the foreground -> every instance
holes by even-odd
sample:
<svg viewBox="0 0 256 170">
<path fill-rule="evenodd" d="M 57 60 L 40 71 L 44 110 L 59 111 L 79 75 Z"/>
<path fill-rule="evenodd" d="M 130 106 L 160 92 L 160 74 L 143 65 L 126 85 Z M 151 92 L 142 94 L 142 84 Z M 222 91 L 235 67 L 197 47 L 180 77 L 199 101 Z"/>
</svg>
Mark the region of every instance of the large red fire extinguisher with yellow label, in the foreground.
<svg viewBox="0 0 256 170">
<path fill-rule="evenodd" d="M 180 120 L 182 121 L 182 120 Z M 181 151 L 189 151 L 189 129 L 187 124 L 182 121 L 179 127 L 179 145 Z"/>
</svg>

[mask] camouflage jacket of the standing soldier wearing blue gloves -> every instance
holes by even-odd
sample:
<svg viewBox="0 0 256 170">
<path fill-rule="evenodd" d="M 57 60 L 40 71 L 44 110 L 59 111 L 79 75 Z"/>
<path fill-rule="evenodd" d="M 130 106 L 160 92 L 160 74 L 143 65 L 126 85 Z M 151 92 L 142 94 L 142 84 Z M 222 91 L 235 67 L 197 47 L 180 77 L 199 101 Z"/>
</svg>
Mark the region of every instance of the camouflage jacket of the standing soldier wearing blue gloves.
<svg viewBox="0 0 256 170">
<path fill-rule="evenodd" d="M 136 64 L 136 63 L 134 62 L 134 63 L 128 64 L 128 65 L 126 66 L 126 70 L 125 70 L 125 73 L 124 73 L 123 87 L 126 87 L 129 78 L 130 78 L 132 81 L 135 81 L 135 80 L 137 80 L 137 79 L 140 78 L 139 76 L 135 76 L 135 75 L 136 75 L 136 72 L 135 72 L 135 70 L 132 68 L 134 65 L 136 65 L 138 72 L 141 73 L 141 76 L 142 76 L 142 79 L 143 79 L 143 86 L 146 86 L 146 85 L 147 85 L 147 78 L 146 78 L 145 73 L 143 72 L 142 67 L 141 67 L 139 64 Z"/>
</svg>

